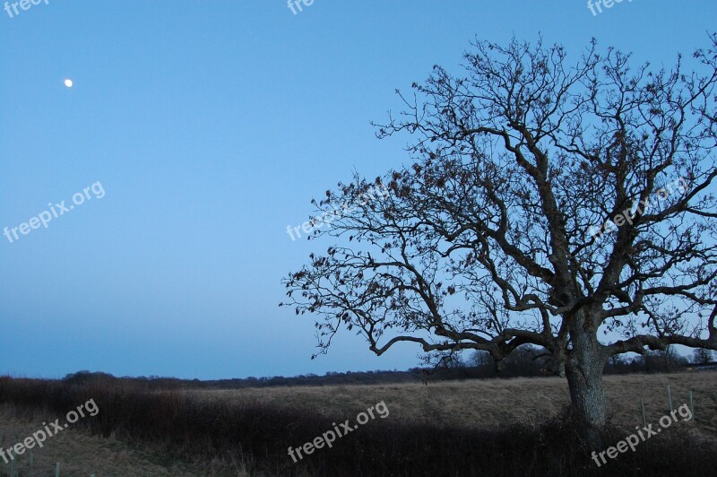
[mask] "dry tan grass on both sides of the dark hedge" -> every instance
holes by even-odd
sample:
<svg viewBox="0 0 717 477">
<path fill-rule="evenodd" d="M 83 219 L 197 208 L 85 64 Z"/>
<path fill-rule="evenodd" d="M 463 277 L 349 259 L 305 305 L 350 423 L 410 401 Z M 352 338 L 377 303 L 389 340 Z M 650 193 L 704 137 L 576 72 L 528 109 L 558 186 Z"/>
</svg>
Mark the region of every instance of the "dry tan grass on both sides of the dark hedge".
<svg viewBox="0 0 717 477">
<path fill-rule="evenodd" d="M 666 387 L 670 386 L 675 408 L 687 402 L 689 390 L 693 391 L 695 400 L 695 420 L 675 426 L 699 440 L 717 441 L 717 372 L 609 376 L 605 382 L 609 420 L 626 432 L 642 424 L 641 398 L 647 422 L 657 423 L 667 412 Z M 341 420 L 354 419 L 358 412 L 383 401 L 390 411 L 390 421 L 450 429 L 499 429 L 514 422 L 535 423 L 557 415 L 568 403 L 566 381 L 557 377 L 436 382 L 428 386 L 420 383 L 296 386 L 185 393 L 200 403 L 263 403 L 272 408 L 304 410 Z M 0 406 L 0 446 L 7 448 L 21 442 L 40 429 L 42 421 L 54 421 L 57 417 L 60 416 L 52 412 L 36 411 L 32 416 L 18 418 L 12 406 Z M 56 462 L 62 463 L 62 475 L 248 474 L 243 470 L 246 463 L 179 463 L 152 451 L 146 442 L 119 441 L 114 436 L 102 438 L 90 435 L 81 427 L 71 427 L 48 438 L 45 447 L 34 449 L 33 455 L 32 475 L 51 475 Z M 19 465 L 23 471 L 29 470 L 28 455 L 19 459 Z M 9 465 L 0 461 L 0 476 L 8 475 L 8 471 Z"/>
</svg>

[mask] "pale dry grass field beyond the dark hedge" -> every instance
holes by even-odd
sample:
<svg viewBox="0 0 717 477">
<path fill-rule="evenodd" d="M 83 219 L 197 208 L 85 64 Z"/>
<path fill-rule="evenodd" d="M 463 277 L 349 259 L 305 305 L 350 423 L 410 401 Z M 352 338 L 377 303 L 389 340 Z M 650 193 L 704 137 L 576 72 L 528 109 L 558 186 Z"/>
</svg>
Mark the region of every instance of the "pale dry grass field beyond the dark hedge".
<svg viewBox="0 0 717 477">
<path fill-rule="evenodd" d="M 667 386 L 677 408 L 693 392 L 696 429 L 717 438 L 717 372 L 606 376 L 609 421 L 632 429 L 668 411 Z M 226 391 L 187 391 L 202 399 L 263 402 L 353 417 L 384 401 L 393 419 L 437 422 L 451 427 L 491 428 L 506 422 L 534 422 L 568 404 L 567 382 L 559 377 L 515 377 L 463 382 L 377 386 L 268 387 Z M 540 412 L 540 414 L 539 414 Z M 540 417 L 539 417 L 540 416 Z"/>
</svg>

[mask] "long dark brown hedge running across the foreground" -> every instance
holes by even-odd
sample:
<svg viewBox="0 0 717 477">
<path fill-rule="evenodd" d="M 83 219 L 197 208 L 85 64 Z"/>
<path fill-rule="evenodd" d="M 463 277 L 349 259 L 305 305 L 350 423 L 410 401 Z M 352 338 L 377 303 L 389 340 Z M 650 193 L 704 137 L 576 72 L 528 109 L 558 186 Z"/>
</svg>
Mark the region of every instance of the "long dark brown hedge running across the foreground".
<svg viewBox="0 0 717 477">
<path fill-rule="evenodd" d="M 131 383 L 0 378 L 0 403 L 31 419 L 38 412 L 65 416 L 94 399 L 99 414 L 74 424 L 134 445 L 151 444 L 168 459 L 194 463 L 222 459 L 250 463 L 254 475 L 709 475 L 717 468 L 713 443 L 670 429 L 600 469 L 583 453 L 573 420 L 564 412 L 540 426 L 453 429 L 392 419 L 369 421 L 294 464 L 288 447 L 354 416 L 326 416 L 261 402 L 197 400 L 175 391 L 147 391 Z M 357 410 L 360 412 L 363 410 Z M 608 441 L 624 435 L 609 430 Z"/>
</svg>

